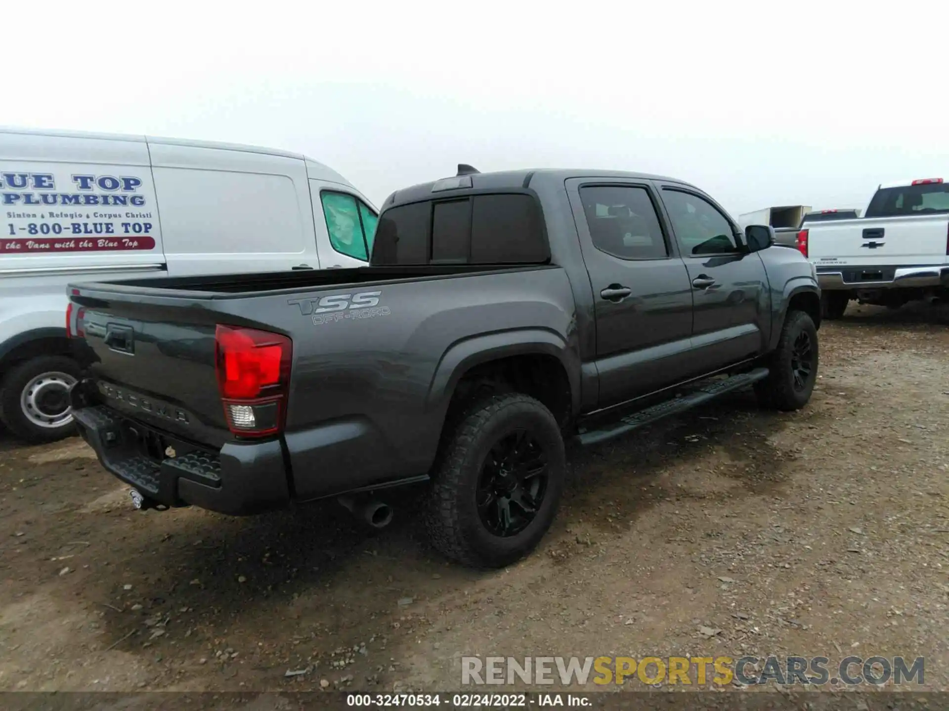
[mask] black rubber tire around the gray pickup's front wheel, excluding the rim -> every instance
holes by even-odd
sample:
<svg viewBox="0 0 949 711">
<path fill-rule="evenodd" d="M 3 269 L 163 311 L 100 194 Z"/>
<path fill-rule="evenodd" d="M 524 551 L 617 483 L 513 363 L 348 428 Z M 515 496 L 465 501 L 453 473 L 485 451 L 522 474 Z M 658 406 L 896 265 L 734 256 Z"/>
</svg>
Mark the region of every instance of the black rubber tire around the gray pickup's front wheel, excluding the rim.
<svg viewBox="0 0 949 711">
<path fill-rule="evenodd" d="M 813 350 L 813 362 L 809 377 L 805 381 L 803 390 L 794 387 L 794 373 L 791 367 L 794 343 L 805 333 L 809 337 L 810 347 Z M 820 362 L 820 352 L 817 342 L 817 328 L 810 316 L 804 311 L 789 311 L 781 328 L 777 348 L 769 358 L 768 368 L 771 373 L 764 380 L 754 384 L 754 393 L 758 403 L 772 410 L 800 410 L 808 404 L 810 393 L 813 392 L 817 381 L 817 368 Z"/>
</svg>

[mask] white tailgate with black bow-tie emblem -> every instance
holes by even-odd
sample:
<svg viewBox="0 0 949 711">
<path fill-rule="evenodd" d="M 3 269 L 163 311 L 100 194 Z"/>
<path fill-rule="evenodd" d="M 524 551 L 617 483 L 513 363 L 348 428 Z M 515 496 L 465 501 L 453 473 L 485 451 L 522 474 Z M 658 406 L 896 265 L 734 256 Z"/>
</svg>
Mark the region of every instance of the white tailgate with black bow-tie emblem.
<svg viewBox="0 0 949 711">
<path fill-rule="evenodd" d="M 839 220 L 806 226 L 821 264 L 944 264 L 949 215 Z"/>
</svg>

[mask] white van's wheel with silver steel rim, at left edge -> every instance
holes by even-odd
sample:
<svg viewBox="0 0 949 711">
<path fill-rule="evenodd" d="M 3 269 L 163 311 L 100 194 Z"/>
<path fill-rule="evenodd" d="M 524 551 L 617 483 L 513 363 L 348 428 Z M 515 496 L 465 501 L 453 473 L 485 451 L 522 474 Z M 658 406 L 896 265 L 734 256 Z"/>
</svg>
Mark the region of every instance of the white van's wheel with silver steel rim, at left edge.
<svg viewBox="0 0 949 711">
<path fill-rule="evenodd" d="M 73 432 L 69 388 L 80 367 L 66 356 L 38 356 L 17 364 L 3 379 L 0 417 L 19 439 L 30 444 L 55 442 Z"/>
</svg>

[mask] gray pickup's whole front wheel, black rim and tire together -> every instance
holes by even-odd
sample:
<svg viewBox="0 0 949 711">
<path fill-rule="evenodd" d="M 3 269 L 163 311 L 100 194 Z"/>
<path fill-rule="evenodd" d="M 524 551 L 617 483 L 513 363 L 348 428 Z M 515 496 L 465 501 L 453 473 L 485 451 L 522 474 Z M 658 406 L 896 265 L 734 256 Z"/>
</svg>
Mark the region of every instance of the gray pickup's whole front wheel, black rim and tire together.
<svg viewBox="0 0 949 711">
<path fill-rule="evenodd" d="M 800 410 L 817 381 L 817 329 L 803 311 L 790 311 L 768 364 L 770 374 L 754 384 L 758 402 L 774 410 Z"/>
</svg>

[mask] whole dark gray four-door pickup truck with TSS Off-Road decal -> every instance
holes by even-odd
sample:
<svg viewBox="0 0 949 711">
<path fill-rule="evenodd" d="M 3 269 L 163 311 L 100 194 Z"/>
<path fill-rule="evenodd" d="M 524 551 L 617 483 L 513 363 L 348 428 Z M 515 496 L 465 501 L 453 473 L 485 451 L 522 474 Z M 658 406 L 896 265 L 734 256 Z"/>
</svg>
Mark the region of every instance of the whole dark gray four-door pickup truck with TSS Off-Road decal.
<svg viewBox="0 0 949 711">
<path fill-rule="evenodd" d="M 549 528 L 565 438 L 814 386 L 813 268 L 679 180 L 459 166 L 330 231 L 370 265 L 69 286 L 76 422 L 137 506 L 381 526 L 425 483 L 435 547 L 498 567 Z"/>
</svg>

